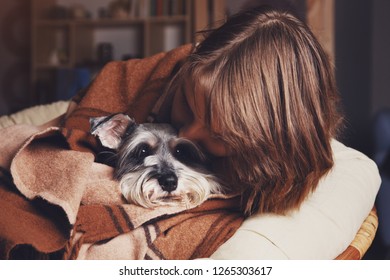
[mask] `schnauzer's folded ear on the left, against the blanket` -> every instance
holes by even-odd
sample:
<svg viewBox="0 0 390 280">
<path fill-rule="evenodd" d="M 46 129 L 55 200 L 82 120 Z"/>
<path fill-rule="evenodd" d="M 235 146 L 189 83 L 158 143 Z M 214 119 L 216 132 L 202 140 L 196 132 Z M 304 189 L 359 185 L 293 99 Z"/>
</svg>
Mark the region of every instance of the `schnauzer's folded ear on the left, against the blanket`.
<svg viewBox="0 0 390 280">
<path fill-rule="evenodd" d="M 92 135 L 98 136 L 104 147 L 117 149 L 122 139 L 133 131 L 137 124 L 125 114 L 90 118 Z"/>
</svg>

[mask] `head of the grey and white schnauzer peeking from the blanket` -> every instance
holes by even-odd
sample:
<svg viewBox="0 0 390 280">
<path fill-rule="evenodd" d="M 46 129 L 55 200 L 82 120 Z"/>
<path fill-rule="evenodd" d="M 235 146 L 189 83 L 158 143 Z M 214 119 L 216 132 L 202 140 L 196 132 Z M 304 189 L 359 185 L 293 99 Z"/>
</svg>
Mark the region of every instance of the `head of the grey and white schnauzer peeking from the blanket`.
<svg viewBox="0 0 390 280">
<path fill-rule="evenodd" d="M 136 124 L 124 114 L 91 118 L 90 124 L 115 159 L 114 176 L 129 203 L 189 206 L 221 193 L 205 154 L 169 124 Z"/>
</svg>

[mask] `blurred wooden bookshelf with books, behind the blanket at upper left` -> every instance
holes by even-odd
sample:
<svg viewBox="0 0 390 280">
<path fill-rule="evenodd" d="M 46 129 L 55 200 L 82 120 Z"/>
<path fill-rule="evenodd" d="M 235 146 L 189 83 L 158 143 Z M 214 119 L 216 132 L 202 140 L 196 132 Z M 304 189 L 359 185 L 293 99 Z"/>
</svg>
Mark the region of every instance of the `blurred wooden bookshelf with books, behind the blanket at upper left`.
<svg viewBox="0 0 390 280">
<path fill-rule="evenodd" d="M 73 2 L 31 0 L 31 105 L 70 98 L 107 61 L 193 41 L 193 0 Z"/>
</svg>

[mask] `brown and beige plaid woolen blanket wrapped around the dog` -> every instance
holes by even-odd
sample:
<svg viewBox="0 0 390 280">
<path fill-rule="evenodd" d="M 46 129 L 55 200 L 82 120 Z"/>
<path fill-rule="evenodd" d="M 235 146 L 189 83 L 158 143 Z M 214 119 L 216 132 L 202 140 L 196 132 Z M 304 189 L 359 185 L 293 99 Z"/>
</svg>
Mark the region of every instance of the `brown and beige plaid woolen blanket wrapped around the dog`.
<svg viewBox="0 0 390 280">
<path fill-rule="evenodd" d="M 210 256 L 239 227 L 238 198 L 144 209 L 126 204 L 89 117 L 126 112 L 144 122 L 189 46 L 108 64 L 61 128 L 0 134 L 0 258 L 192 259 Z"/>
</svg>

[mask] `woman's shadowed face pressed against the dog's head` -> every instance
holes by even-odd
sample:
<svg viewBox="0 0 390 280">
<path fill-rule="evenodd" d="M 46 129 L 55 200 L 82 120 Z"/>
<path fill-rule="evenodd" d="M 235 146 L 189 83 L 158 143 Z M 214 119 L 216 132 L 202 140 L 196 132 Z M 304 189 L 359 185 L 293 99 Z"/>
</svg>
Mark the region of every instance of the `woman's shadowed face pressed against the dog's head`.
<svg viewBox="0 0 390 280">
<path fill-rule="evenodd" d="M 190 83 L 175 92 L 172 102 L 171 123 L 179 131 L 179 137 L 187 138 L 216 157 L 229 155 L 226 144 L 206 126 L 206 104 L 202 92 L 192 92 Z M 193 96 L 196 96 L 195 102 Z"/>
</svg>

